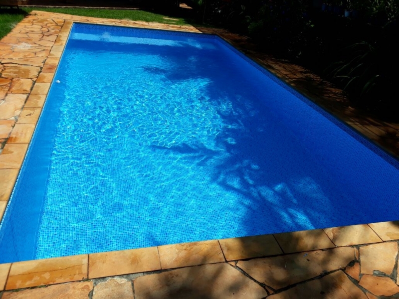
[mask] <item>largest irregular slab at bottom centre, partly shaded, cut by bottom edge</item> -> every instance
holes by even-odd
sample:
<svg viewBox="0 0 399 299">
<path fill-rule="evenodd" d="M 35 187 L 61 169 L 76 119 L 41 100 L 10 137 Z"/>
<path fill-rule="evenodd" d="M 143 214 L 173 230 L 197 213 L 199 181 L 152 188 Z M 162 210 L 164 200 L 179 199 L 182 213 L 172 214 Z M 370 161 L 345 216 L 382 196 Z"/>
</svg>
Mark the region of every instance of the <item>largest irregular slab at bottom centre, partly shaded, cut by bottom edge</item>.
<svg viewBox="0 0 399 299">
<path fill-rule="evenodd" d="M 267 296 L 258 284 L 226 263 L 176 269 L 133 281 L 136 299 L 235 298 Z"/>
</svg>

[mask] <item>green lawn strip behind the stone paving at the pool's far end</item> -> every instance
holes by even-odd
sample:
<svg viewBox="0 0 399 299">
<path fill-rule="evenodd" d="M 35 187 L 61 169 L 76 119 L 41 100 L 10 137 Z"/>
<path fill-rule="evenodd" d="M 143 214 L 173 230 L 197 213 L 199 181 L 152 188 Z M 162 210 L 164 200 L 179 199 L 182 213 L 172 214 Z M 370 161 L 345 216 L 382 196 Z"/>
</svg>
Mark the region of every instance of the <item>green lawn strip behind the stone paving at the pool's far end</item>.
<svg viewBox="0 0 399 299">
<path fill-rule="evenodd" d="M 132 9 L 95 9 L 95 8 L 42 8 L 23 7 L 21 9 L 0 9 L 0 38 L 5 36 L 24 16 L 32 10 L 67 13 L 81 16 L 104 17 L 114 19 L 129 19 L 134 21 L 158 22 L 166 24 L 185 25 L 193 24 L 190 18 L 175 17 L 168 14 L 159 14 L 145 10 Z M 178 20 L 165 19 L 174 18 Z"/>
</svg>

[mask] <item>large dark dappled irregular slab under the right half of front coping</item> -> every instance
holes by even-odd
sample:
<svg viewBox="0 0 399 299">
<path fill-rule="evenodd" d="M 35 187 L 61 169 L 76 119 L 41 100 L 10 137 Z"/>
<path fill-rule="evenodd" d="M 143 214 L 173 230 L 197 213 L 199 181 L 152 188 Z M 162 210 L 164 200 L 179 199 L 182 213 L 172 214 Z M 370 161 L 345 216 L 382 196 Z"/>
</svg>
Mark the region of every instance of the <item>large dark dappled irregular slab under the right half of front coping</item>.
<svg viewBox="0 0 399 299">
<path fill-rule="evenodd" d="M 239 261 L 237 267 L 256 281 L 275 290 L 296 284 L 323 272 L 345 268 L 355 259 L 355 250 L 340 247 L 250 261 Z"/>
</svg>

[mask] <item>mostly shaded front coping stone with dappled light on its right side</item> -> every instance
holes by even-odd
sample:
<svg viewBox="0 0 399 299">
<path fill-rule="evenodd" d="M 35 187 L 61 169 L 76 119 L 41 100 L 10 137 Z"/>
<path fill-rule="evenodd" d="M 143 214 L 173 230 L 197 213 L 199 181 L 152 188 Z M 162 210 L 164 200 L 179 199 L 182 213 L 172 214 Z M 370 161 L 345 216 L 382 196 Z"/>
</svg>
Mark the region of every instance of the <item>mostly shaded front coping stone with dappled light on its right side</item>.
<svg viewBox="0 0 399 299">
<path fill-rule="evenodd" d="M 322 229 L 275 234 L 284 253 L 334 248 L 334 244 Z"/>
</svg>

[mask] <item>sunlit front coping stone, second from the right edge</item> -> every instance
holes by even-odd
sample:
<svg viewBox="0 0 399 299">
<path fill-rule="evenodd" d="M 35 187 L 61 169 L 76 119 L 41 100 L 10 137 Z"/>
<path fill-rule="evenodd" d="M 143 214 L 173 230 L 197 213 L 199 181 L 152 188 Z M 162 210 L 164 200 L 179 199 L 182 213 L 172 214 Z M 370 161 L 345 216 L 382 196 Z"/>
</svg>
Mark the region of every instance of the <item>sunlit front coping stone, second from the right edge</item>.
<svg viewBox="0 0 399 299">
<path fill-rule="evenodd" d="M 332 227 L 324 229 L 327 236 L 337 246 L 350 246 L 382 242 L 367 224 Z"/>
</svg>

